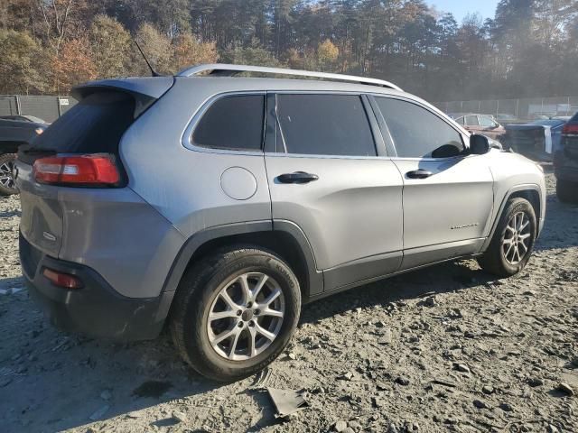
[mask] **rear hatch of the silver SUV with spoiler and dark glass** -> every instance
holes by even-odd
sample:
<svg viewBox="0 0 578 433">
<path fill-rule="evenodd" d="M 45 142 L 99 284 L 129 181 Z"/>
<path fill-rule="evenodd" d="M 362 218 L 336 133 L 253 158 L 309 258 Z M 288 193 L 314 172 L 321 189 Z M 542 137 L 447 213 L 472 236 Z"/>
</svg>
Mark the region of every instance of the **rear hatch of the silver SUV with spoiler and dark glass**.
<svg viewBox="0 0 578 433">
<path fill-rule="evenodd" d="M 63 197 L 66 197 L 62 194 L 63 189 L 117 189 L 126 186 L 126 171 L 118 149 L 122 136 L 138 115 L 171 86 L 172 78 L 127 78 L 99 81 L 76 88 L 74 96 L 79 99 L 79 104 L 51 124 L 32 143 L 19 148 L 16 184 L 22 203 L 20 230 L 28 244 L 42 253 L 59 257 L 66 232 L 63 209 L 70 208 L 62 203 Z M 117 170 L 116 181 L 106 184 L 70 182 L 64 178 L 67 170 L 70 167 L 74 169 L 74 166 L 51 165 L 52 161 L 83 158 L 88 158 L 90 162 L 95 157 L 104 157 L 104 161 L 111 162 L 111 166 Z M 42 179 L 38 167 L 48 167 L 49 176 Z M 51 172 L 52 167 L 61 171 Z M 75 174 L 73 170 L 70 172 Z M 82 195 L 74 197 L 82 199 Z M 87 215 L 87 225 L 90 224 L 89 218 Z"/>
</svg>

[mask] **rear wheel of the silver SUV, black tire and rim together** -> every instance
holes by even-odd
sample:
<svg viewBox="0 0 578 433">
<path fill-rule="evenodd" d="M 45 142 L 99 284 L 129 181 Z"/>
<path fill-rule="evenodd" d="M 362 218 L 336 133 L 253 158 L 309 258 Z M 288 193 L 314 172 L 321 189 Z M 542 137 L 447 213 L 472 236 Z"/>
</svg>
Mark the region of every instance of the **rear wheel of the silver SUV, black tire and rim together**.
<svg viewBox="0 0 578 433">
<path fill-rule="evenodd" d="M 247 297 L 243 298 L 244 293 L 247 296 L 242 289 L 244 275 L 247 287 L 258 291 L 250 308 Z M 256 290 L 261 279 L 263 288 Z M 226 302 L 223 290 L 232 304 Z M 266 308 L 265 300 L 277 292 Z M 282 318 L 273 316 L 280 311 Z M 171 334 L 184 360 L 197 372 L 232 382 L 259 372 L 281 354 L 294 334 L 300 311 L 299 282 L 289 266 L 275 253 L 238 246 L 214 253 L 185 273 L 172 302 Z M 210 313 L 227 317 L 209 322 Z M 262 330 L 275 337 L 267 338 Z M 231 336 L 216 343 L 226 334 Z"/>
</svg>

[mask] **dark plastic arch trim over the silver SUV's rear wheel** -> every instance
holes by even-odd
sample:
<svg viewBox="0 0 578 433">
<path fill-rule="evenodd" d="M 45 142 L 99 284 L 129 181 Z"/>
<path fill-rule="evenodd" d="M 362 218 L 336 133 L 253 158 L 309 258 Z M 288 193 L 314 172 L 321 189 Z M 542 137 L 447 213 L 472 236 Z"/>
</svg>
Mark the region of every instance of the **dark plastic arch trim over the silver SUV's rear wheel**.
<svg viewBox="0 0 578 433">
<path fill-rule="evenodd" d="M 278 254 L 297 276 L 303 301 L 323 290 L 322 272 L 303 231 L 289 221 L 256 221 L 211 227 L 192 235 L 182 246 L 163 285 L 177 290 L 184 273 L 208 254 L 227 245 L 252 244 Z"/>
</svg>

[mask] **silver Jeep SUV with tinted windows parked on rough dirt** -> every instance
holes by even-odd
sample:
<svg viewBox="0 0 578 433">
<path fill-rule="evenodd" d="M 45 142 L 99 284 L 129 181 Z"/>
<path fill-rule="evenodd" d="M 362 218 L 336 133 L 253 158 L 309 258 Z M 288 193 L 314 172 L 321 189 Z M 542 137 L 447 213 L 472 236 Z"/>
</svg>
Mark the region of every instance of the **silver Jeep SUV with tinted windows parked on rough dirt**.
<svg viewBox="0 0 578 433">
<path fill-rule="evenodd" d="M 271 363 L 305 302 L 459 257 L 513 275 L 544 223 L 539 166 L 387 81 L 203 65 L 75 97 L 18 153 L 32 296 L 92 336 L 166 325 L 217 380 Z"/>
</svg>

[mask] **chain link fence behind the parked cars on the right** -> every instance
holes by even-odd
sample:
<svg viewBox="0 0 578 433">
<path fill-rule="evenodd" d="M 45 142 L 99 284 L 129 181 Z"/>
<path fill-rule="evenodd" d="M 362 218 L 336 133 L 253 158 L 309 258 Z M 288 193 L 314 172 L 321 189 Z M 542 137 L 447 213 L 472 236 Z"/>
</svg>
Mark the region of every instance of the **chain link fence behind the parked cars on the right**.
<svg viewBox="0 0 578 433">
<path fill-rule="evenodd" d="M 479 113 L 535 120 L 578 112 L 578 97 L 528 97 L 522 99 L 489 99 L 437 102 L 435 106 L 449 114 Z"/>
</svg>

